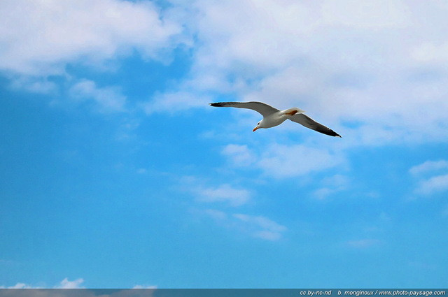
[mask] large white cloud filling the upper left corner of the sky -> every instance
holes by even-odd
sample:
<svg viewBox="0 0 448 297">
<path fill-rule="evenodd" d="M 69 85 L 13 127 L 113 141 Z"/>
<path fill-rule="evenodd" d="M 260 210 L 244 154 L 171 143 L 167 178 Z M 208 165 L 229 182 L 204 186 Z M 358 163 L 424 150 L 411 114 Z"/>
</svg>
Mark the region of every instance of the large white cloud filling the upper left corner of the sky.
<svg viewBox="0 0 448 297">
<path fill-rule="evenodd" d="M 0 28 L 0 69 L 27 75 L 63 73 L 81 58 L 102 63 L 132 48 L 157 59 L 182 31 L 151 1 L 118 0 L 4 0 Z"/>
</svg>

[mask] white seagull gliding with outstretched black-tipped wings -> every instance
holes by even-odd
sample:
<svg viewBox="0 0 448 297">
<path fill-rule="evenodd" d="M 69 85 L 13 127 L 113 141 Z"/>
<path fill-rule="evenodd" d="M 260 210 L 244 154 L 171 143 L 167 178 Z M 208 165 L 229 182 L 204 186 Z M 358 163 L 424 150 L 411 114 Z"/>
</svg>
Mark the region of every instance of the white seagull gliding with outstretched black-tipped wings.
<svg viewBox="0 0 448 297">
<path fill-rule="evenodd" d="M 306 126 L 309 129 L 313 129 L 320 133 L 324 133 L 329 136 L 337 136 L 342 137 L 332 129 L 327 126 L 323 126 L 323 124 L 319 124 L 318 122 L 311 119 L 304 114 L 304 110 L 300 108 L 289 108 L 286 110 L 278 110 L 273 108 L 272 106 L 267 105 L 262 102 L 216 102 L 209 103 L 210 106 L 214 107 L 235 107 L 235 108 L 247 108 L 255 110 L 263 116 L 263 119 L 258 122 L 257 126 L 253 128 L 253 132 L 260 128 L 271 128 L 273 126 L 279 126 L 279 124 L 286 121 L 286 119 L 290 119 L 293 122 L 299 123 L 302 126 Z"/>
</svg>

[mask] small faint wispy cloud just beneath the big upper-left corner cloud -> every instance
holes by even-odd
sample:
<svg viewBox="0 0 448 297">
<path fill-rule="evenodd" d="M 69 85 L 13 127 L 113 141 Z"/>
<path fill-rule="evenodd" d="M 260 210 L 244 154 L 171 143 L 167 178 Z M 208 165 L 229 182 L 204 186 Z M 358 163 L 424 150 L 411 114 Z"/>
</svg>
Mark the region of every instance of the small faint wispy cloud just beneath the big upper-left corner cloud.
<svg viewBox="0 0 448 297">
<path fill-rule="evenodd" d="M 69 94 L 78 101 L 92 100 L 102 112 L 125 110 L 126 97 L 117 88 L 99 88 L 92 80 L 80 80 L 69 89 Z"/>
</svg>

